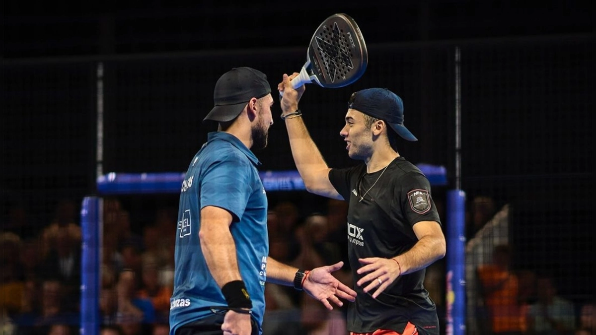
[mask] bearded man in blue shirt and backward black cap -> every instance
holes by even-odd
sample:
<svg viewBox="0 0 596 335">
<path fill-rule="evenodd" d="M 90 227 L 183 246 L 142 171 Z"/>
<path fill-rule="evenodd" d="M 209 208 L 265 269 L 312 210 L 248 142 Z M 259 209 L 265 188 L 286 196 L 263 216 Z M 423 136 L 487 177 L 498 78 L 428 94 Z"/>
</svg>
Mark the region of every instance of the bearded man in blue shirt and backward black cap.
<svg viewBox="0 0 596 335">
<path fill-rule="evenodd" d="M 261 333 L 265 281 L 304 289 L 328 309 L 356 292 L 331 272 L 304 271 L 268 258 L 267 197 L 251 148 L 267 145 L 271 86 L 250 67 L 222 75 L 204 120 L 218 131 L 191 160 L 182 182 L 170 335 Z"/>
</svg>

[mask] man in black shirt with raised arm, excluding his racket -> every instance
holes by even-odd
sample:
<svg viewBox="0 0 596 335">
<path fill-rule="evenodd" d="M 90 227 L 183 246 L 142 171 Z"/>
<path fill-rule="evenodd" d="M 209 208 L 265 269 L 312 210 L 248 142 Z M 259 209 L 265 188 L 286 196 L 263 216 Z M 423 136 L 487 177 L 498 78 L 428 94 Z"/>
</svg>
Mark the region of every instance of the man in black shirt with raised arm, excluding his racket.
<svg viewBox="0 0 596 335">
<path fill-rule="evenodd" d="M 397 151 L 398 135 L 417 141 L 403 126 L 401 98 L 371 88 L 350 97 L 340 135 L 353 168 L 329 168 L 302 120 L 284 75 L 278 89 L 282 119 L 306 189 L 349 203 L 347 240 L 356 301 L 348 307 L 350 334 L 439 334 L 436 306 L 424 289 L 425 269 L 445 256 L 445 237 L 426 176 Z"/>
</svg>

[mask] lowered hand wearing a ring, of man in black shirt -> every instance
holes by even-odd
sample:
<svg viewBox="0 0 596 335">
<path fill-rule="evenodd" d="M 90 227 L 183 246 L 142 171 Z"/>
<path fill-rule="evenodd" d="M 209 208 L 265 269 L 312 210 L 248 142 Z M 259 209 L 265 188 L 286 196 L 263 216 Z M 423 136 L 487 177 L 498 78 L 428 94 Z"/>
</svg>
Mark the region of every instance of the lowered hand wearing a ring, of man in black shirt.
<svg viewBox="0 0 596 335">
<path fill-rule="evenodd" d="M 383 293 L 387 287 L 393 284 L 401 274 L 402 269 L 398 260 L 395 258 L 361 258 L 358 261 L 363 265 L 356 272 L 358 274 L 367 274 L 356 283 L 358 286 L 362 286 L 369 283 L 364 287 L 364 292 L 376 289 L 373 293 L 373 298 L 377 299 L 378 295 Z"/>
</svg>

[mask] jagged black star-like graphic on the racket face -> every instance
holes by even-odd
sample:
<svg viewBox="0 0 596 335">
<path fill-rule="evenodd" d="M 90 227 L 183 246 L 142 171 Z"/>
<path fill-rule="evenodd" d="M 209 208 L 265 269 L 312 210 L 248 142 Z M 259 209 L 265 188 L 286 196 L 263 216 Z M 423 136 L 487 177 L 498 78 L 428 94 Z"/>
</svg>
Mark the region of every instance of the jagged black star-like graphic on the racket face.
<svg viewBox="0 0 596 335">
<path fill-rule="evenodd" d="M 354 68 L 354 64 L 352 63 L 350 52 L 347 49 L 348 45 L 342 38 L 337 22 L 333 23 L 331 32 L 326 30 L 327 29 L 324 29 L 320 34 L 323 37 L 316 36 L 315 41 L 319 55 L 325 63 L 326 71 L 324 71 L 324 73 L 330 77 L 331 82 L 335 82 L 338 69 L 347 67 L 351 70 Z M 349 35 L 349 33 L 348 36 L 351 40 L 350 43 L 353 45 L 352 36 Z"/>
</svg>

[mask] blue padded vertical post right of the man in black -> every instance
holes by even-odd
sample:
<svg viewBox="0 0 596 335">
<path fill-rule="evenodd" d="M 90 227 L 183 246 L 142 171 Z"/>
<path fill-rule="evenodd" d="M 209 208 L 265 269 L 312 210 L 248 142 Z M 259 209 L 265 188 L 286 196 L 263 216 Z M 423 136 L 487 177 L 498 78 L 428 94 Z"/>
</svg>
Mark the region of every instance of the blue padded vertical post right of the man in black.
<svg viewBox="0 0 596 335">
<path fill-rule="evenodd" d="M 465 193 L 447 193 L 446 335 L 465 335 Z"/>
</svg>

